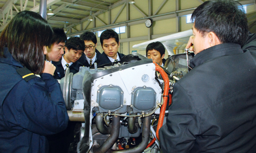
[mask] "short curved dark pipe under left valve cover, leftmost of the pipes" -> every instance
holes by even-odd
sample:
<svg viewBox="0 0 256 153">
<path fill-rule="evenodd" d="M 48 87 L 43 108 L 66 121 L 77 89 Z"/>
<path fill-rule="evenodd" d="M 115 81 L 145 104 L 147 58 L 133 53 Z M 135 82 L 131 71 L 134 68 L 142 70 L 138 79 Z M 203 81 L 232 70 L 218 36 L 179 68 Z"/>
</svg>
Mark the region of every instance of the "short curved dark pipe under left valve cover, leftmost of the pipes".
<svg viewBox="0 0 256 153">
<path fill-rule="evenodd" d="M 109 127 L 107 127 L 104 124 L 102 113 L 98 113 L 96 115 L 96 127 L 97 127 L 98 131 L 103 135 L 108 135 L 111 133 L 111 125 L 109 125 Z"/>
</svg>

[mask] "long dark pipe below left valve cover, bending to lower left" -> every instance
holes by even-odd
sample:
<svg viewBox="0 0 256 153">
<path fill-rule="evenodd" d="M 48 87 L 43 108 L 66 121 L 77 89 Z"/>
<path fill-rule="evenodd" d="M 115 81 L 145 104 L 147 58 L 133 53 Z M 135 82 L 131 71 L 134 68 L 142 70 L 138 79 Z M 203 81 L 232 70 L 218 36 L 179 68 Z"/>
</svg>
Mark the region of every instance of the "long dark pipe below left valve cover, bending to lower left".
<svg viewBox="0 0 256 153">
<path fill-rule="evenodd" d="M 120 130 L 120 116 L 113 116 L 112 118 L 112 129 L 111 129 L 111 135 L 106 141 L 98 148 L 97 145 L 92 146 L 94 153 L 103 153 L 108 151 L 113 144 L 116 143 L 118 136 L 119 136 L 119 130 Z"/>
</svg>

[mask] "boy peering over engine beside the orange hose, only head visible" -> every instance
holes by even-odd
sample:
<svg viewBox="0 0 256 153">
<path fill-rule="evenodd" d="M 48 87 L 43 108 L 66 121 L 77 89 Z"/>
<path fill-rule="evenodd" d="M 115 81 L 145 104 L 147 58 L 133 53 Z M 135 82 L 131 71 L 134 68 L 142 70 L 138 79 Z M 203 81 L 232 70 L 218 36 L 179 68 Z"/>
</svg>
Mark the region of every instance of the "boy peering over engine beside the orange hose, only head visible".
<svg viewBox="0 0 256 153">
<path fill-rule="evenodd" d="M 164 66 L 166 59 L 164 59 L 165 48 L 163 44 L 159 41 L 152 42 L 146 47 L 146 57 L 152 59 L 160 66 Z"/>
</svg>

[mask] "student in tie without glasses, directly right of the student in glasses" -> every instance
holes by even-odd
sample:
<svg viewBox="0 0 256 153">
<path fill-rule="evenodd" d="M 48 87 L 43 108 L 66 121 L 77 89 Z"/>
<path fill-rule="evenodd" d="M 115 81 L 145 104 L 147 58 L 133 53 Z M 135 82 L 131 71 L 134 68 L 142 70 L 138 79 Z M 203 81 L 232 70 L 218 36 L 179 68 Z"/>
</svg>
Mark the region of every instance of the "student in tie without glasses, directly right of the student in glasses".
<svg viewBox="0 0 256 153">
<path fill-rule="evenodd" d="M 100 35 L 100 43 L 104 52 L 101 54 L 98 65 L 120 61 L 124 56 L 124 54 L 118 53 L 120 42 L 118 34 L 114 30 L 103 31 Z"/>
</svg>

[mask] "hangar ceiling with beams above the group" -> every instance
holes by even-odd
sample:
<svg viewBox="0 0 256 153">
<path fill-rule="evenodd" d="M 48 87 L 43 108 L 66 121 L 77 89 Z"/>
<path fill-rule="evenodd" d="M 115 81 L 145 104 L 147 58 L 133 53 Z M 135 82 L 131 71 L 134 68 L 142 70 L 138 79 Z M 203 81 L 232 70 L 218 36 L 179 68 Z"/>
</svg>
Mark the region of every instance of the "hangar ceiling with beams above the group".
<svg viewBox="0 0 256 153">
<path fill-rule="evenodd" d="M 72 29 L 74 26 L 91 18 L 103 22 L 97 17 L 99 14 L 109 12 L 111 9 L 119 6 L 122 6 L 121 9 L 123 9 L 129 1 L 131 0 L 48 0 L 47 10 L 51 7 L 54 15 L 47 15 L 47 20 L 52 27 L 66 27 L 67 29 Z M 138 2 L 140 0 L 135 0 L 135 2 L 136 1 Z M 145 2 L 152 3 L 152 1 L 155 2 L 156 0 L 148 0 Z M 163 6 L 167 1 L 168 0 L 163 0 L 161 6 Z M 197 1 L 203 3 L 206 0 Z M 242 0 L 239 2 L 243 5 L 255 4 L 255 0 Z M 177 3 L 184 3 L 184 0 L 176 0 L 176 4 Z M 8 21 L 17 14 L 17 12 L 23 10 L 39 12 L 39 4 L 40 1 L 38 0 L 0 0 L 0 32 L 7 25 Z M 144 13 L 138 6 L 136 6 L 136 3 L 132 4 L 132 6 L 135 7 L 138 12 L 142 14 Z M 159 7 L 159 9 L 161 9 L 161 7 Z M 189 12 L 194 9 L 195 8 L 191 8 Z M 141 20 L 148 17 L 154 17 L 156 15 L 158 17 L 161 16 L 161 14 L 157 14 L 157 12 L 153 12 L 152 15 L 144 13 L 144 17 L 141 18 Z M 113 23 L 115 23 L 115 19 L 116 18 L 113 18 L 112 21 L 104 23 L 104 25 L 113 25 Z M 128 22 L 129 19 L 126 21 Z"/>
</svg>

